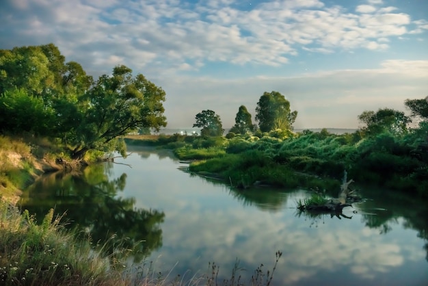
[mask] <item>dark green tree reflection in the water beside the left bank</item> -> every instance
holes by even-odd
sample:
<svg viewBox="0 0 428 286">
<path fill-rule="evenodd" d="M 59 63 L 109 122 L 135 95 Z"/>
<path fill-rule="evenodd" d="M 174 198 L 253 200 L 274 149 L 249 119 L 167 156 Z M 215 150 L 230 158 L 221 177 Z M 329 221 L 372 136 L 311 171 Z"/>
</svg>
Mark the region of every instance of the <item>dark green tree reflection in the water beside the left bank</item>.
<svg viewBox="0 0 428 286">
<path fill-rule="evenodd" d="M 137 209 L 135 198 L 120 198 L 126 174 L 109 181 L 109 168 L 96 164 L 79 173 L 47 174 L 24 192 L 21 208 L 42 218 L 54 207 L 57 215 L 66 213 L 66 226 L 90 235 L 93 243 L 105 244 L 110 253 L 118 245 L 133 249 L 138 262 L 162 246 L 165 213 Z"/>
</svg>

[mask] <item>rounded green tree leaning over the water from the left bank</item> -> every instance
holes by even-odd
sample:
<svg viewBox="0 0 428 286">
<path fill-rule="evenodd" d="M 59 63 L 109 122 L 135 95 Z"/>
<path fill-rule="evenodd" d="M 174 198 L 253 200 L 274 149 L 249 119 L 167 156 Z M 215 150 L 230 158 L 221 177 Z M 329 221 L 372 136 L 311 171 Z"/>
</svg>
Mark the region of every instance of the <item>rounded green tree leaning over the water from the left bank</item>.
<svg viewBox="0 0 428 286">
<path fill-rule="evenodd" d="M 159 131 L 166 126 L 165 92 L 142 74 L 133 77 L 126 66 L 116 66 L 111 76 L 101 76 L 81 101 L 85 104 L 79 110 L 79 125 L 70 138 L 76 159 L 91 149 L 124 155 L 120 136 L 138 128 Z"/>
</svg>

